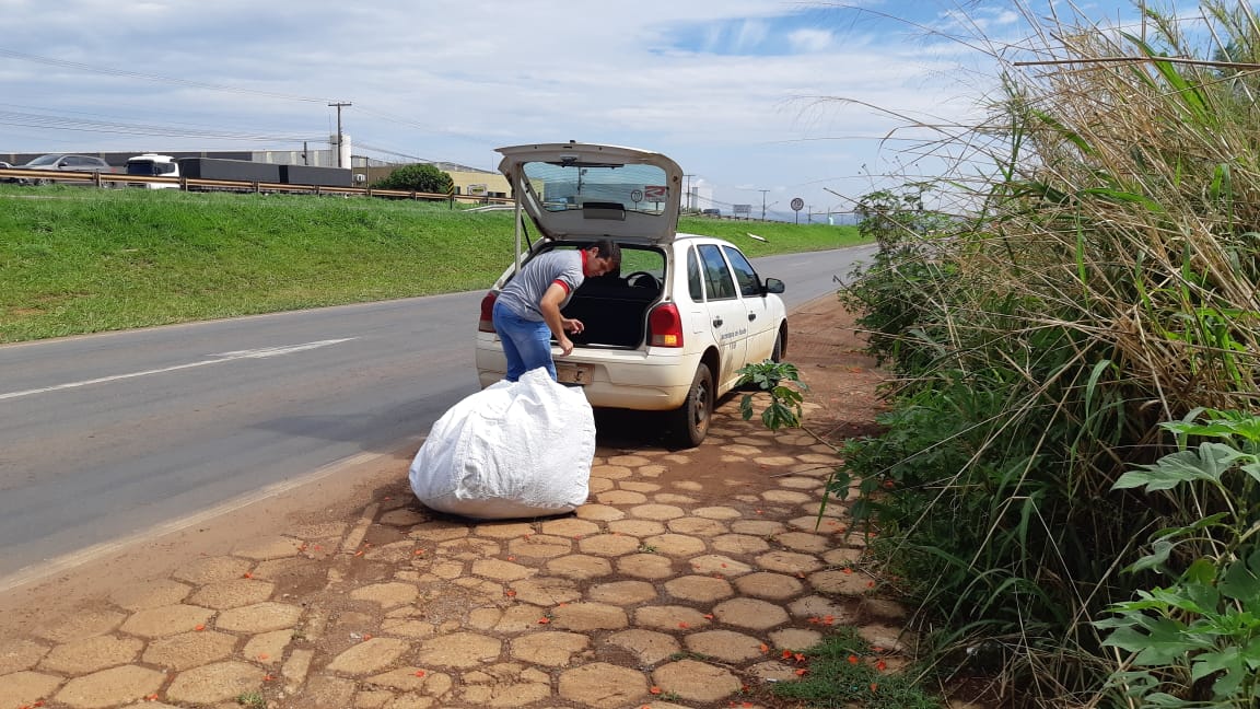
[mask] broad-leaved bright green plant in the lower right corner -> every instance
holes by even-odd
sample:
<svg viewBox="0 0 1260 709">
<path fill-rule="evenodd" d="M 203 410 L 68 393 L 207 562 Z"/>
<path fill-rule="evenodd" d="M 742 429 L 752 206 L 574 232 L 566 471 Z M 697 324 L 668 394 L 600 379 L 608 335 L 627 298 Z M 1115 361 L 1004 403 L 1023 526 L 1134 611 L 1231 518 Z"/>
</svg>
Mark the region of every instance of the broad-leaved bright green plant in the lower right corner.
<svg viewBox="0 0 1260 709">
<path fill-rule="evenodd" d="M 1196 423 L 1198 415 L 1205 420 Z M 1129 653 L 1110 685 L 1150 706 L 1252 708 L 1260 701 L 1260 416 L 1203 410 L 1163 428 L 1177 434 L 1178 450 L 1124 473 L 1115 487 L 1188 492 L 1203 516 L 1155 532 L 1150 553 L 1129 566 L 1174 575 L 1172 584 L 1138 590 L 1137 601 L 1111 606 L 1115 617 L 1094 623 L 1109 631 L 1105 646 Z"/>
</svg>

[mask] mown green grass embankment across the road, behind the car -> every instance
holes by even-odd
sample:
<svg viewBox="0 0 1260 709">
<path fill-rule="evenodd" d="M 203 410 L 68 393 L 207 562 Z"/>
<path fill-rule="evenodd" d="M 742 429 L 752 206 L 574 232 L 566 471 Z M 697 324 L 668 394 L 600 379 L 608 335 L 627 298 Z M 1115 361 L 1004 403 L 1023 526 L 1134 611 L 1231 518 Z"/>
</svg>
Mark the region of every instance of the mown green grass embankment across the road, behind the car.
<svg viewBox="0 0 1260 709">
<path fill-rule="evenodd" d="M 862 241 L 825 225 L 679 228 L 751 257 Z M 446 203 L 0 185 L 0 342 L 489 288 L 513 233 L 510 211 Z"/>
</svg>

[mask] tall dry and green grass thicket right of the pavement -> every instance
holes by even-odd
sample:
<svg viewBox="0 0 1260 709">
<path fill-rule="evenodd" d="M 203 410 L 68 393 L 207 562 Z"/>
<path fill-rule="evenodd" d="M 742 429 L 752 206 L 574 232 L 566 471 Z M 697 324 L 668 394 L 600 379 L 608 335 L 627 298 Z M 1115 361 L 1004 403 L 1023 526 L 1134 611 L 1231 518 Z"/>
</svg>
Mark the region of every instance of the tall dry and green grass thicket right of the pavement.
<svg viewBox="0 0 1260 709">
<path fill-rule="evenodd" d="M 942 661 L 1012 704 L 1137 705 L 1091 621 L 1183 573 L 1210 539 L 1121 570 L 1213 510 L 1113 486 L 1171 450 L 1162 421 L 1257 404 L 1260 23 L 1241 3 L 1205 3 L 1192 34 L 1152 9 L 1130 28 L 1022 10 L 1033 37 L 993 49 L 1004 93 L 954 145 L 990 177 L 941 183 L 976 208 L 850 291 L 902 366 L 845 476 Z"/>
</svg>

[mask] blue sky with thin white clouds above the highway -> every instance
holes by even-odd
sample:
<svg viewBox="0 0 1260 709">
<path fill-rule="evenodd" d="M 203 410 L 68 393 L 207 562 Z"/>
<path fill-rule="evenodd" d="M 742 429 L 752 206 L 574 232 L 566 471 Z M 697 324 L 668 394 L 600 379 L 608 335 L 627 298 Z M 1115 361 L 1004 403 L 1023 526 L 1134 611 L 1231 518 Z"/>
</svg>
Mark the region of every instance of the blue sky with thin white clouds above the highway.
<svg viewBox="0 0 1260 709">
<path fill-rule="evenodd" d="M 627 145 L 697 207 L 820 221 L 939 172 L 911 124 L 976 120 L 976 32 L 1027 28 L 984 0 L 0 0 L 0 153 L 326 148 L 346 103 L 355 156 Z"/>
</svg>

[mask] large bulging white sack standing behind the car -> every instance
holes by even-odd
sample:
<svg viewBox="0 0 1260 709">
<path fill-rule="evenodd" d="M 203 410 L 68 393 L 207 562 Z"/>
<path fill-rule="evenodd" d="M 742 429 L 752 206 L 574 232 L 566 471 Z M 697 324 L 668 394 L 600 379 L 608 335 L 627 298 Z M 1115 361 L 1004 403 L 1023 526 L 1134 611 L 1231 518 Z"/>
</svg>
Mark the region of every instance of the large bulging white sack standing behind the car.
<svg viewBox="0 0 1260 709">
<path fill-rule="evenodd" d="M 411 463 L 427 507 L 483 520 L 572 512 L 586 502 L 595 416 L 546 368 L 467 396 L 433 424 Z"/>
</svg>

